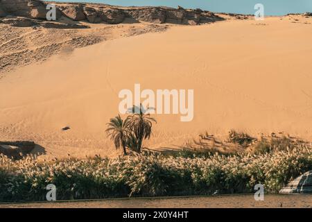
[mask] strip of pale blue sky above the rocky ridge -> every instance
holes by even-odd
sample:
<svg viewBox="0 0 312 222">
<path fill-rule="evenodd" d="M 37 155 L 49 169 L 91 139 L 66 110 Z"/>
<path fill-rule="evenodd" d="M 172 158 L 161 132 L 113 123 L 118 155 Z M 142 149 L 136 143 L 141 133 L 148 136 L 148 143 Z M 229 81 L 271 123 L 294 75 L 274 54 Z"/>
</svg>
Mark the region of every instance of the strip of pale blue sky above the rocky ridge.
<svg viewBox="0 0 312 222">
<path fill-rule="evenodd" d="M 62 1 L 62 0 L 55 0 Z M 262 3 L 265 15 L 312 12 L 312 0 L 65 0 L 67 2 L 96 2 L 114 6 L 182 6 L 202 8 L 213 12 L 254 14 L 254 5 Z"/>
</svg>

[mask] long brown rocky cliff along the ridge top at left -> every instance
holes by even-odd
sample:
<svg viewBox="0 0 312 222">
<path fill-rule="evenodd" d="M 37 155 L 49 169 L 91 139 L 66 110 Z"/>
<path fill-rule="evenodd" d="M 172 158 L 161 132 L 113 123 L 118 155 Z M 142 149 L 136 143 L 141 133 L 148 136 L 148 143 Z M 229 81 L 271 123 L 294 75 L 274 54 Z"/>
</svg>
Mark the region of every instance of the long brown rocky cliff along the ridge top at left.
<svg viewBox="0 0 312 222">
<path fill-rule="evenodd" d="M 57 8 L 57 19 L 67 17 L 73 21 L 90 23 L 120 24 L 130 22 L 150 22 L 155 24 L 188 24 L 215 22 L 222 18 L 200 9 L 168 7 L 118 7 L 99 3 L 58 3 L 39 0 L 0 0 L 0 17 L 19 16 L 31 19 L 46 18 L 46 4 Z"/>
</svg>

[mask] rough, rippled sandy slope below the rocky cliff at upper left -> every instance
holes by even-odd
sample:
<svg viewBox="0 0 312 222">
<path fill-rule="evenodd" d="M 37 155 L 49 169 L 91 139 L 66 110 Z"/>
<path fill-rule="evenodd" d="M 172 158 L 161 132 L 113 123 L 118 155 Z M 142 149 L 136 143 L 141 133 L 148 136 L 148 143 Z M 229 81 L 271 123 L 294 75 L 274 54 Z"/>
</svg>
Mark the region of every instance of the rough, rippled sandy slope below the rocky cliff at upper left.
<svg viewBox="0 0 312 222">
<path fill-rule="evenodd" d="M 17 19 L 12 19 L 16 21 Z M 41 22 L 51 24 L 49 22 Z M 45 28 L 44 26 L 15 27 L 0 24 L 0 78 L 18 67 L 42 62 L 53 55 L 69 56 L 73 49 L 105 40 L 128 37 L 149 32 L 165 31 L 157 24 L 76 24 L 67 18 L 55 26 L 87 26 L 89 28 Z"/>
</svg>

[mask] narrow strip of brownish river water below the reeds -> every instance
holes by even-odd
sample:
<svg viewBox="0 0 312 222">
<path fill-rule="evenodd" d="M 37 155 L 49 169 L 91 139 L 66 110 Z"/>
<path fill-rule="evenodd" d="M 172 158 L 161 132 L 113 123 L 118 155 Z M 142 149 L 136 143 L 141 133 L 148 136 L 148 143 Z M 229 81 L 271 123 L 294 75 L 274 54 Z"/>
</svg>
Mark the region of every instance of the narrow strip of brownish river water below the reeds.
<svg viewBox="0 0 312 222">
<path fill-rule="evenodd" d="M 8 203 L 0 207 L 309 207 L 312 208 L 312 194 L 267 194 L 264 200 L 254 200 L 253 195 L 190 196 L 161 198 L 116 198 L 106 200 L 76 200 L 44 203 Z"/>
</svg>

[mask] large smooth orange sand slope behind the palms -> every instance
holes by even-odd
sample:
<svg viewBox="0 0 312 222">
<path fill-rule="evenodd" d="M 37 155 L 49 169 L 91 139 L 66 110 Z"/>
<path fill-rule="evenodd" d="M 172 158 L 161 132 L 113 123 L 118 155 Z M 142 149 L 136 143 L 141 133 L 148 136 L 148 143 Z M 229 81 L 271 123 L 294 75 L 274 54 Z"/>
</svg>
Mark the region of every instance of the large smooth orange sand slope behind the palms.
<svg viewBox="0 0 312 222">
<path fill-rule="evenodd" d="M 194 89 L 194 119 L 155 115 L 146 146 L 205 130 L 312 136 L 312 26 L 298 16 L 173 26 L 23 67 L 0 80 L 0 139 L 33 139 L 49 156 L 116 155 L 105 123 L 121 89 Z M 64 126 L 70 130 L 62 131 Z"/>
</svg>

